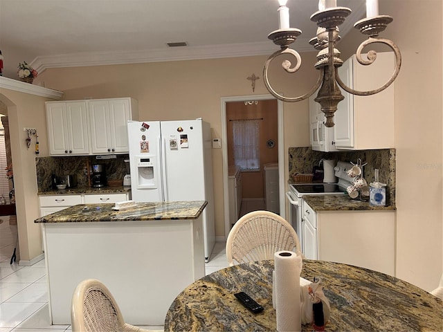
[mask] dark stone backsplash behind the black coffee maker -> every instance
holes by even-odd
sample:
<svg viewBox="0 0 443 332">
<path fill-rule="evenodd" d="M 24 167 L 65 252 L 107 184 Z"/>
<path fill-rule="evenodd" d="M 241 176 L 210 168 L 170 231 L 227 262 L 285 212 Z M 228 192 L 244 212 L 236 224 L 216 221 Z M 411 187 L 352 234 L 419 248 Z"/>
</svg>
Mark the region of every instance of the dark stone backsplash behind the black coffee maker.
<svg viewBox="0 0 443 332">
<path fill-rule="evenodd" d="M 37 157 L 35 168 L 37 169 L 37 187 L 39 192 L 50 190 L 52 187 L 51 176 L 55 174 L 77 176 L 78 187 L 88 187 L 89 181 L 84 167 L 92 170 L 92 165 L 105 165 L 108 180 L 122 179 L 126 174 L 125 159 L 127 154 L 116 155 L 116 159 L 96 159 L 95 156 L 69 156 L 69 157 Z"/>
</svg>

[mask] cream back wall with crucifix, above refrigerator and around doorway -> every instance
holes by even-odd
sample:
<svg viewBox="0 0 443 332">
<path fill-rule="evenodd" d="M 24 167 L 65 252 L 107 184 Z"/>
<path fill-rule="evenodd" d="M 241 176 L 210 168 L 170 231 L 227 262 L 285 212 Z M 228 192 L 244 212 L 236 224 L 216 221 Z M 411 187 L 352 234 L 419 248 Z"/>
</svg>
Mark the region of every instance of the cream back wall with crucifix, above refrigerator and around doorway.
<svg viewBox="0 0 443 332">
<path fill-rule="evenodd" d="M 314 53 L 315 54 L 315 53 Z M 296 80 L 276 80 L 282 93 L 305 93 L 316 77 L 309 57 Z M 203 118 L 210 122 L 213 138 L 221 138 L 222 97 L 266 94 L 262 70 L 266 57 L 239 57 L 180 62 L 156 62 L 121 66 L 54 68 L 37 77 L 36 84 L 65 93 L 66 100 L 132 97 L 138 100 L 140 120 L 184 120 Z M 252 91 L 247 77 L 260 77 Z M 310 73 L 310 74 L 309 74 Z M 291 85 L 292 84 L 292 85 Z M 283 87 L 286 86 L 286 90 Z M 288 88 L 290 86 L 290 89 Z M 307 102 L 284 105 L 284 151 L 309 145 Z M 43 145 L 44 142 L 40 142 Z M 288 165 L 287 153 L 284 165 Z M 286 180 L 288 174 L 285 174 Z M 215 232 L 224 234 L 224 192 L 221 149 L 213 149 Z M 286 183 L 287 181 L 285 181 Z"/>
</svg>

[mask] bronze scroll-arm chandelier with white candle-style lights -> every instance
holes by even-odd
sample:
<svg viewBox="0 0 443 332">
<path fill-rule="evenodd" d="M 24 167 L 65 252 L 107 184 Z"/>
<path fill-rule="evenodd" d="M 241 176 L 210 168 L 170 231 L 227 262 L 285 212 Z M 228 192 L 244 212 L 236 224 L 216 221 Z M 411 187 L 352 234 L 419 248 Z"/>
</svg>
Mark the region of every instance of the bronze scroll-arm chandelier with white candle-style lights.
<svg viewBox="0 0 443 332">
<path fill-rule="evenodd" d="M 299 102 L 300 100 L 309 98 L 309 96 L 314 94 L 320 87 L 314 100 L 321 105 L 321 110 L 325 113 L 325 126 L 333 127 L 333 117 L 337 110 L 338 102 L 344 99 L 338 86 L 353 95 L 373 95 L 386 89 L 397 78 L 401 66 L 400 50 L 397 45 L 389 39 L 379 37 L 379 33 L 385 30 L 386 26 L 392 22 L 392 17 L 379 15 L 378 0 L 366 0 L 366 18 L 357 21 L 354 24 L 354 28 L 359 29 L 363 35 L 367 35 L 368 39 L 363 41 L 357 48 L 356 59 L 360 64 L 368 66 L 374 63 L 377 58 L 377 53 L 374 50 L 370 50 L 365 56 L 366 59 L 363 59 L 361 54 L 363 48 L 373 43 L 386 44 L 395 53 L 395 69 L 386 84 L 371 91 L 356 91 L 342 82 L 340 77 L 338 77 L 338 67 L 343 64 L 343 60 L 340 59 L 340 52 L 335 48 L 335 45 L 338 40 L 341 39 L 338 35 L 338 26 L 343 24 L 345 18 L 350 15 L 351 10 L 350 8 L 337 7 L 336 0 L 320 0 L 318 1 L 318 12 L 314 12 L 314 14 L 311 15 L 311 21 L 316 22 L 318 26 L 317 36 L 309 41 L 309 44 L 318 50 L 317 62 L 314 65 L 314 67 L 320 71 L 318 80 L 309 92 L 298 97 L 284 97 L 275 92 L 268 78 L 269 64 L 273 59 L 279 55 L 295 57 L 296 64 L 294 65 L 291 64 L 288 59 L 284 59 L 282 62 L 282 67 L 287 73 L 296 73 L 301 65 L 300 54 L 296 50 L 289 48 L 289 45 L 296 41 L 302 31 L 296 28 L 289 28 L 289 8 L 286 6 L 287 0 L 278 0 L 278 3 L 280 5 L 280 8 L 278 8 L 279 29 L 270 33 L 268 38 L 271 39 L 275 45 L 280 46 L 280 50 L 273 53 L 266 60 L 263 69 L 266 89 L 268 89 L 275 98 L 283 102 Z"/>
</svg>

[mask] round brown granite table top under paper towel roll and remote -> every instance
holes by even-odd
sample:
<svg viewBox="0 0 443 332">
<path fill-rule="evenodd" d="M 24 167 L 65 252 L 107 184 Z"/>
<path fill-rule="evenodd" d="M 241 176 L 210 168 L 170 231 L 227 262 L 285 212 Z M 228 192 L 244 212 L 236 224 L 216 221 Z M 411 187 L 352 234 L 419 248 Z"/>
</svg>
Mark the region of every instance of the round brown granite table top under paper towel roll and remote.
<svg viewBox="0 0 443 332">
<path fill-rule="evenodd" d="M 182 291 L 165 317 L 164 331 L 275 331 L 273 261 L 219 270 Z M 331 304 L 326 331 L 443 331 L 442 300 L 395 277 L 373 270 L 303 261 L 301 277 L 322 277 Z M 244 291 L 264 307 L 253 314 L 234 293 Z M 302 331 L 313 331 L 310 324 Z"/>
</svg>

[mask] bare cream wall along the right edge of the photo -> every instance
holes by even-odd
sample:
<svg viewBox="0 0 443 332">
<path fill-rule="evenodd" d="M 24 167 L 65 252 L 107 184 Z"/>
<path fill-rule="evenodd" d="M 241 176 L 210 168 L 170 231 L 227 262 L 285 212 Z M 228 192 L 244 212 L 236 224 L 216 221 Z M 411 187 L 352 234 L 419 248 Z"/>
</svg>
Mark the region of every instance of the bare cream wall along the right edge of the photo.
<svg viewBox="0 0 443 332">
<path fill-rule="evenodd" d="M 392 39 L 403 60 L 395 81 L 396 273 L 431 291 L 443 269 L 442 1 L 379 1 L 379 12 L 394 17 L 380 37 Z M 363 38 L 347 35 L 338 45 L 343 57 L 356 49 L 350 41 Z"/>
</svg>

